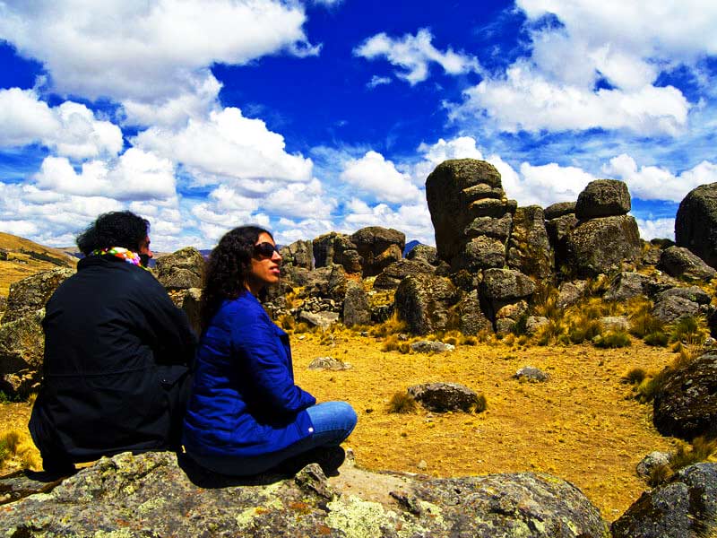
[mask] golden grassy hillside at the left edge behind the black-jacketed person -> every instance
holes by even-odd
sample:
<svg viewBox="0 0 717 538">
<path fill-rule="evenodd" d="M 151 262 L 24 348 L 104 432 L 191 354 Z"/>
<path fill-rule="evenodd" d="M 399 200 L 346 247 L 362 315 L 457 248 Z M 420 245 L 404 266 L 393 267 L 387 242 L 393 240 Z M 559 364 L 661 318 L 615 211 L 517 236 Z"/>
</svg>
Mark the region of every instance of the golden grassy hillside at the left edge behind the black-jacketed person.
<svg viewBox="0 0 717 538">
<path fill-rule="evenodd" d="M 0 231 L 0 296 L 7 297 L 10 284 L 30 274 L 56 267 L 75 267 L 77 258 L 64 249 L 39 245 Z"/>
</svg>

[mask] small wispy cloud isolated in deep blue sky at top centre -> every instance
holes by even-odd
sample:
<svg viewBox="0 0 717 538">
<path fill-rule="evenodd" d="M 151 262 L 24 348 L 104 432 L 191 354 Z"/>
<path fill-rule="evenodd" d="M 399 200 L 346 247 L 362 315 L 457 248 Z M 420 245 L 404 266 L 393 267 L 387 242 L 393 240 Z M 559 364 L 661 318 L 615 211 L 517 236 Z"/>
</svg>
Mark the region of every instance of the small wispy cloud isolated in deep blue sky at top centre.
<svg viewBox="0 0 717 538">
<path fill-rule="evenodd" d="M 445 74 L 479 70 L 478 60 L 474 56 L 456 53 L 452 48 L 441 52 L 433 46 L 432 40 L 431 32 L 425 28 L 420 29 L 415 36 L 405 34 L 401 39 L 390 38 L 382 32 L 355 48 L 354 55 L 369 60 L 386 58 L 391 64 L 402 68 L 396 72 L 396 76 L 411 86 L 428 78 L 430 63 L 443 67 Z"/>
</svg>

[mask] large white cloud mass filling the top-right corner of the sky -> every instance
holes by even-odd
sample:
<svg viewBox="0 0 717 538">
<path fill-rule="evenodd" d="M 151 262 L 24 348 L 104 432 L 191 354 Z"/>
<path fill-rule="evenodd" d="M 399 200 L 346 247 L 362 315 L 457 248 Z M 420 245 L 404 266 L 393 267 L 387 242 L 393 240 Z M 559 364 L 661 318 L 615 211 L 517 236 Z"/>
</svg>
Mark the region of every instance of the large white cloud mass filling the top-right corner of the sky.
<svg viewBox="0 0 717 538">
<path fill-rule="evenodd" d="M 466 91 L 462 104 L 451 107 L 452 117 L 487 116 L 508 132 L 685 132 L 692 105 L 678 89 L 655 84 L 662 72 L 680 65 L 698 75 L 698 62 L 717 53 L 712 4 L 519 0 L 517 5 L 531 29 L 530 56 Z M 561 24 L 540 24 L 546 15 Z"/>
</svg>

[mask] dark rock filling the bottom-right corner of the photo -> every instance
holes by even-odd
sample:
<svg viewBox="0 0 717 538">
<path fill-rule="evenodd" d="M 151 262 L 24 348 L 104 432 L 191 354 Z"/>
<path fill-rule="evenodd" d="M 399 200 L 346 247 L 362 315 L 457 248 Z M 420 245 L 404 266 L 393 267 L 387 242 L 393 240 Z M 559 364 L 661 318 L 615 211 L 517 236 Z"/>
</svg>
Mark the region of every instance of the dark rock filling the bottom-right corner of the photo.
<svg viewBox="0 0 717 538">
<path fill-rule="evenodd" d="M 645 491 L 610 530 L 613 538 L 709 536 L 716 513 L 717 464 L 695 464 Z"/>
</svg>

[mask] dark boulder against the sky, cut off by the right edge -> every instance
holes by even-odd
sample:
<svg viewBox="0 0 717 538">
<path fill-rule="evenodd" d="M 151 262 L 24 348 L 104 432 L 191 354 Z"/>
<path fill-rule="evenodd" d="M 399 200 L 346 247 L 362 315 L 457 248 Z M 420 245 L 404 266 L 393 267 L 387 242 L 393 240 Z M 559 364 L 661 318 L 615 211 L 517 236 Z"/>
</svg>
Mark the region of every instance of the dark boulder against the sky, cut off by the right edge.
<svg viewBox="0 0 717 538">
<path fill-rule="evenodd" d="M 680 202 L 675 242 L 717 267 L 717 183 L 696 187 Z"/>
</svg>

